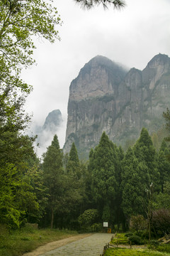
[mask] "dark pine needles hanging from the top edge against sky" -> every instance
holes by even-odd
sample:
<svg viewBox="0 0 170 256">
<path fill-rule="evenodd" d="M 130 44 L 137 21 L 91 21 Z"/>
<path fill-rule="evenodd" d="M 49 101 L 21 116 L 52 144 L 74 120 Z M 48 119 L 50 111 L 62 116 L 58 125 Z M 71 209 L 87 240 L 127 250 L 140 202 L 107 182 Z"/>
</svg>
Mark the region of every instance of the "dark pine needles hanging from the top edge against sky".
<svg viewBox="0 0 170 256">
<path fill-rule="evenodd" d="M 81 4 L 82 7 L 86 9 L 91 9 L 92 7 L 103 4 L 104 8 L 107 8 L 108 5 L 112 5 L 115 9 L 120 9 L 125 6 L 124 1 L 120 0 L 74 0 L 78 4 Z"/>
</svg>

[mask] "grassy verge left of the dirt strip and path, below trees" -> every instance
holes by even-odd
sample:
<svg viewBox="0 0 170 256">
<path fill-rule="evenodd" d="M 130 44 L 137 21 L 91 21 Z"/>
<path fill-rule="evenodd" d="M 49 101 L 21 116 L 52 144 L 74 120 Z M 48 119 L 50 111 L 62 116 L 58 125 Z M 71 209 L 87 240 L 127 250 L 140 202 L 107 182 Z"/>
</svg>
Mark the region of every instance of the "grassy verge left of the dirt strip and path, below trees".
<svg viewBox="0 0 170 256">
<path fill-rule="evenodd" d="M 77 235 L 75 231 L 38 230 L 33 227 L 13 230 L 10 233 L 5 228 L 1 228 L 0 231 L 0 256 L 20 256 L 25 252 L 35 250 L 40 245 L 45 245 L 47 242 Z"/>
</svg>

